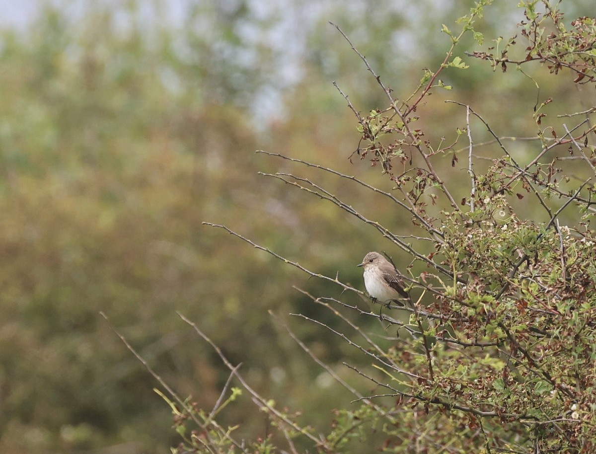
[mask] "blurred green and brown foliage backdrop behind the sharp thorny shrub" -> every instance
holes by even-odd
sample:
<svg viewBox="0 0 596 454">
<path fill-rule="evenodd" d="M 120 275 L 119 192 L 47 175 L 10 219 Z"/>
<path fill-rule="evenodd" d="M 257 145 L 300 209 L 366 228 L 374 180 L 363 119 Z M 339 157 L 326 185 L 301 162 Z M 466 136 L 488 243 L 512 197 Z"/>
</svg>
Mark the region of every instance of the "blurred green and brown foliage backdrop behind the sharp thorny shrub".
<svg viewBox="0 0 596 454">
<path fill-rule="evenodd" d="M 496 3 L 479 23 L 487 41 L 513 35 L 522 20 L 516 2 Z M 470 5 L 0 2 L 0 452 L 163 453 L 178 443 L 156 381 L 100 311 L 181 396 L 210 408 L 228 374 L 176 310 L 242 362 L 260 393 L 302 411 L 312 425 L 328 424 L 350 396 L 268 310 L 357 380 L 342 366 L 353 355 L 349 346 L 288 316 L 333 323 L 292 286 L 331 297 L 340 288 L 201 222 L 224 223 L 361 287 L 355 265 L 367 251 L 386 249 L 405 260 L 374 229 L 258 175 L 300 167 L 254 151 L 334 167 L 390 191 L 377 167 L 349 160 L 356 121 L 332 81 L 363 112 L 384 107 L 384 94 L 328 21 L 403 99 L 423 67 L 443 60 L 450 42 L 441 24 L 457 29 L 454 21 Z M 593 13 L 592 0 L 565 0 L 561 8 L 568 21 Z M 428 139 L 453 138 L 465 127 L 462 108 L 445 99 L 471 104 L 509 136 L 535 134 L 538 98 L 553 97 L 558 110 L 594 105 L 593 88 L 569 83 L 570 74 L 535 69 L 538 94 L 519 71 L 495 73 L 465 57 L 477 49 L 462 42 L 458 55 L 470 69 L 446 71 L 454 90 L 436 92 L 424 105 Z M 485 132 L 476 126 L 480 141 Z M 464 165 L 446 178 L 467 185 L 458 167 Z M 408 231 L 408 219 L 387 200 L 312 175 L 371 219 Z M 247 437 L 266 433 L 265 417 L 246 396 L 224 421 L 242 423 Z"/>
</svg>

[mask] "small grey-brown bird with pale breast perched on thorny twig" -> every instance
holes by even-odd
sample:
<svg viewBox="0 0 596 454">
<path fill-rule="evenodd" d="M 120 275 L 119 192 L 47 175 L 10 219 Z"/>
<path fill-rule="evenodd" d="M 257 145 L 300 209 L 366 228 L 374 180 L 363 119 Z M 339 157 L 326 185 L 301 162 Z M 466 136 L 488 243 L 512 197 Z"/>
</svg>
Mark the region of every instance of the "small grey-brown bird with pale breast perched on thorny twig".
<svg viewBox="0 0 596 454">
<path fill-rule="evenodd" d="M 356 266 L 364 266 L 364 286 L 374 300 L 389 303 L 392 300 L 409 298 L 408 293 L 403 290 L 402 278 L 395 266 L 378 252 L 369 252 L 362 263 Z"/>
</svg>

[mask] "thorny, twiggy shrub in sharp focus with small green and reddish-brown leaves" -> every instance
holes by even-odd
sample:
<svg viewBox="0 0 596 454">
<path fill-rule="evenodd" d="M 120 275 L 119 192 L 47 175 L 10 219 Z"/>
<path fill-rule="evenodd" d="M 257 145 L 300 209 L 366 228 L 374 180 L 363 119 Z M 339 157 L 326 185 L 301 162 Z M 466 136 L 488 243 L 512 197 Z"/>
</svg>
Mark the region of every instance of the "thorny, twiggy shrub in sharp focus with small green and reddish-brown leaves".
<svg viewBox="0 0 596 454">
<path fill-rule="evenodd" d="M 370 160 L 392 182 L 392 191 L 300 158 L 266 153 L 300 168 L 331 173 L 395 203 L 396 213 L 411 222 L 411 235 L 398 235 L 368 219 L 313 178 L 287 172 L 264 174 L 345 210 L 409 254 L 411 263 L 401 270 L 409 301 L 389 304 L 391 312 L 380 306 L 362 309 L 350 303 L 347 295 L 368 300 L 356 288 L 363 286 L 306 269 L 227 226 L 207 223 L 347 291 L 345 298 L 303 291 L 313 303 L 332 310 L 345 331 L 306 315 L 302 318 L 331 329 L 338 342 L 370 360 L 367 368 L 346 366 L 365 377 L 374 393 L 368 395 L 346 383 L 287 328 L 313 360 L 353 393 L 356 402 L 346 402 L 345 408 L 336 411 L 327 433 L 319 434 L 308 422 L 299 422 L 304 416 L 280 409 L 256 393 L 238 366 L 187 320 L 221 356 L 231 380 L 239 381 L 242 388 L 231 388 L 229 380 L 211 411 L 195 408 L 172 391 L 175 427 L 184 437 L 173 452 L 299 452 L 302 446 L 328 453 L 594 452 L 596 240 L 590 226 L 596 160 L 595 126 L 589 114 L 596 108 L 561 112 L 545 125 L 544 110 L 551 99 L 539 101 L 530 114 L 538 133 L 525 138 L 523 152 L 510 150 L 508 144 L 515 138 L 499 135 L 482 117 L 482 108 L 459 101 L 450 102 L 460 106 L 465 128 L 455 130 L 451 139 L 418 126 L 423 124 L 418 115 L 429 95 L 451 89 L 442 74 L 468 68 L 455 54 L 464 35 L 486 46 L 477 21 L 489 4 L 491 0 L 478 1 L 458 21 L 459 32 L 443 26 L 451 39 L 445 60 L 434 71 L 424 70 L 418 87 L 403 100 L 393 97 L 384 77 L 344 35 L 387 97 L 386 107 L 362 114 L 337 85 L 361 133 L 350 158 Z M 578 18 L 568 30 L 555 5 L 533 0 L 520 6 L 525 16 L 519 24 L 520 37 L 498 38 L 483 51 L 468 52 L 468 57 L 503 71 L 542 63 L 554 74 L 571 71 L 573 83 L 593 86 L 594 18 Z M 522 56 L 513 57 L 516 52 Z M 567 126 L 560 119 L 573 124 Z M 488 141 L 474 144 L 473 121 L 488 130 Z M 466 163 L 464 175 L 469 182 L 463 195 L 460 181 L 452 176 L 460 161 Z M 462 173 L 457 175 L 461 179 Z M 563 215 L 566 225 L 561 222 Z M 407 317 L 401 316 L 404 313 Z M 387 332 L 396 332 L 389 345 L 359 327 L 357 320 L 364 317 L 377 319 Z M 244 392 L 269 416 L 268 437 L 237 440 L 233 427 L 218 424 L 218 412 Z M 278 447 L 280 443 L 284 447 Z"/>
</svg>

